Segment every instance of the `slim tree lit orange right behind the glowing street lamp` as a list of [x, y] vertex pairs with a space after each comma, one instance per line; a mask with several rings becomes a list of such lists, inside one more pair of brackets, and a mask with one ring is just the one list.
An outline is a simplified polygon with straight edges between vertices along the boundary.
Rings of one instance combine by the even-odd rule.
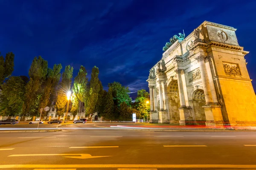
[[[72, 83], [72, 77], [73, 77], [73, 67], [70, 67], [70, 65], [67, 65], [65, 67], [64, 72], [62, 73], [62, 79], [58, 89], [57, 102], [55, 105], [58, 116], [63, 116], [63, 113], [65, 111], [65, 106], [67, 104], [67, 92], [71, 90], [70, 88]], [[58, 119], [59, 118], [60, 117], [58, 117]]]

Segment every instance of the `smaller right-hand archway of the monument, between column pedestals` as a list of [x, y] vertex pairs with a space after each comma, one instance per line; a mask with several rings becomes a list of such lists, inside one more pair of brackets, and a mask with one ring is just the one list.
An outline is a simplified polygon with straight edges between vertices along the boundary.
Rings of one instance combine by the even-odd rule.
[[195, 121], [197, 125], [204, 125], [206, 118], [204, 113], [204, 108], [202, 106], [205, 105], [205, 96], [204, 91], [198, 89], [193, 94], [193, 108], [195, 112]]

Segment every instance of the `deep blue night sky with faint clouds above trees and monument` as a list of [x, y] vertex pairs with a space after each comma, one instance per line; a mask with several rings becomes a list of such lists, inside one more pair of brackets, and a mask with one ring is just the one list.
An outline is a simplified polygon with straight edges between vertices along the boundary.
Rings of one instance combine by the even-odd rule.
[[148, 90], [149, 69], [170, 37], [190, 34], [204, 20], [237, 28], [256, 88], [255, 0], [0, 0], [0, 51], [15, 54], [13, 75], [28, 75], [41, 55], [49, 67], [99, 67], [107, 87], [117, 81], [132, 97]]

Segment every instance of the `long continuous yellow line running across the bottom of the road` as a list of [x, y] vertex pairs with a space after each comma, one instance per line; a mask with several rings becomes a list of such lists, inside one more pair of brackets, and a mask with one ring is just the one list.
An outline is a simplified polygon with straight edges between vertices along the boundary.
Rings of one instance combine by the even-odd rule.
[[0, 168], [256, 168], [243, 164], [7, 164]]

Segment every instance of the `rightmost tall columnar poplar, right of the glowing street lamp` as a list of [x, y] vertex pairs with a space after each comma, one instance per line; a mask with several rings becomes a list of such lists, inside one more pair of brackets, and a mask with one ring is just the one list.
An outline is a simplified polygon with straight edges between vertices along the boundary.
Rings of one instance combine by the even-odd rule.
[[99, 68], [96, 66], [92, 69], [91, 79], [90, 79], [90, 91], [89, 99], [87, 100], [87, 114], [93, 114], [95, 112], [96, 104], [98, 102], [98, 95], [100, 90], [99, 84]]

